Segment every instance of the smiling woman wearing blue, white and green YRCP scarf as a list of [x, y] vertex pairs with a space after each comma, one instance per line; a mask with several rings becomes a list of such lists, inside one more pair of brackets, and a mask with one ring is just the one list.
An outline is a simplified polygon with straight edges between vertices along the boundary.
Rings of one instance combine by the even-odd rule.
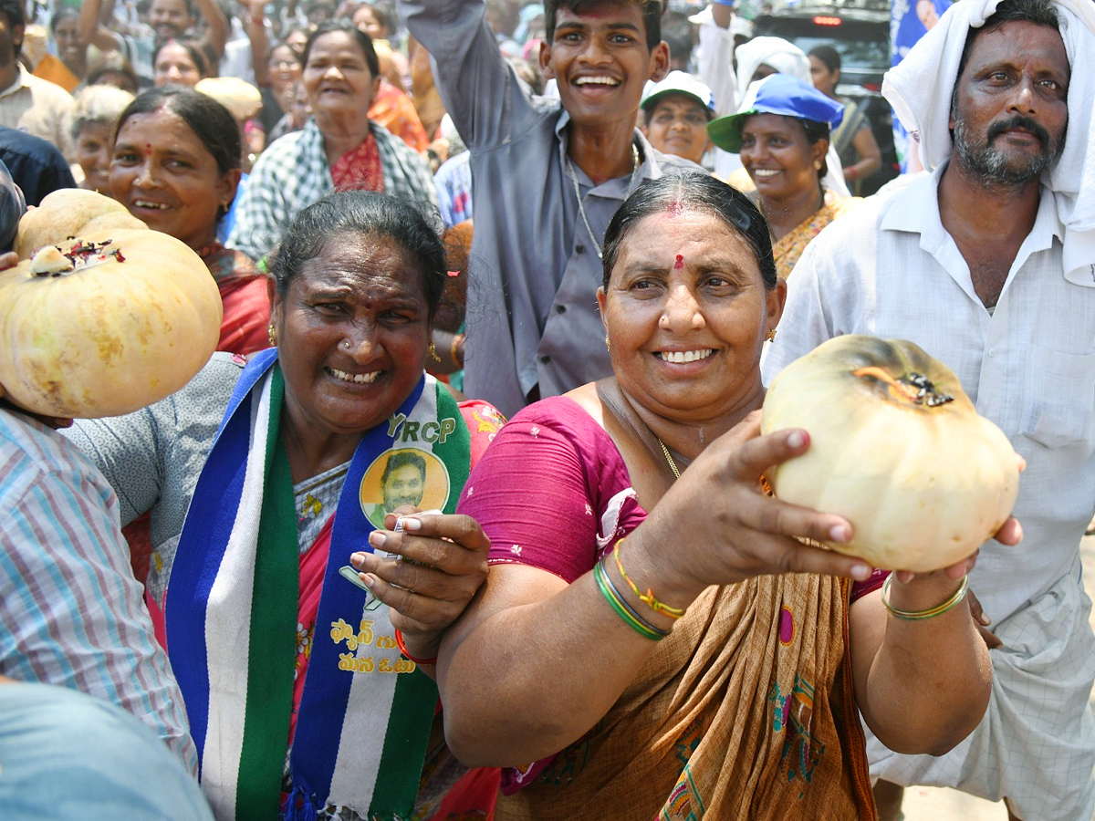
[[[170, 574], [168, 647], [218, 818], [411, 817], [437, 701], [416, 663], [486, 575], [482, 531], [452, 513], [500, 423], [423, 373], [445, 271], [413, 206], [333, 195], [273, 257], [278, 347], [72, 429], [123, 521], [152, 511], [149, 587]], [[385, 530], [390, 462], [420, 464], [404, 500], [445, 512]], [[497, 774], [465, 777], [460, 806], [488, 811]]]

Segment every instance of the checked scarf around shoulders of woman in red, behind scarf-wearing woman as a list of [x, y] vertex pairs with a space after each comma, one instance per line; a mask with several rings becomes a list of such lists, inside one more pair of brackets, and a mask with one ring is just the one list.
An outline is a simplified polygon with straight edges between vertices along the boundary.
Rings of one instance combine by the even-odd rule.
[[[370, 125], [380, 153], [384, 193], [417, 200], [436, 211], [434, 177], [423, 159], [383, 126]], [[323, 135], [310, 119], [301, 130], [275, 140], [260, 155], [226, 244], [252, 259], [262, 259], [298, 213], [334, 189]]]

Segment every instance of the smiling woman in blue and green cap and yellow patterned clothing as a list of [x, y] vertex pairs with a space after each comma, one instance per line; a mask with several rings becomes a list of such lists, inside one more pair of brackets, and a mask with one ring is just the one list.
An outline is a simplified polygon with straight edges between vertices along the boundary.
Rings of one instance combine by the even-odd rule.
[[749, 86], [737, 114], [707, 124], [718, 148], [741, 155], [749, 185], [727, 182], [749, 196], [768, 220], [776, 273], [786, 279], [821, 229], [858, 205], [825, 187], [829, 131], [843, 106], [805, 81], [770, 74]]

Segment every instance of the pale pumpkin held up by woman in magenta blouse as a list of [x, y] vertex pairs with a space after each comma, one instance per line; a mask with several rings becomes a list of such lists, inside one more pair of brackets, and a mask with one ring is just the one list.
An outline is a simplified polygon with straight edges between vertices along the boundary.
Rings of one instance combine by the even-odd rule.
[[775, 495], [839, 513], [834, 550], [876, 567], [947, 567], [992, 536], [1018, 494], [1015, 451], [958, 378], [912, 343], [839, 336], [788, 365], [761, 431], [803, 428], [809, 450], [776, 467]]

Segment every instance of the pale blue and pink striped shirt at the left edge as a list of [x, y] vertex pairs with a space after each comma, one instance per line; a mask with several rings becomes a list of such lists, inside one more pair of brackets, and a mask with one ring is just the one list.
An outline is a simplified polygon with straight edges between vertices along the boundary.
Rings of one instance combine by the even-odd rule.
[[0, 674], [79, 690], [197, 753], [103, 475], [41, 423], [0, 408]]

